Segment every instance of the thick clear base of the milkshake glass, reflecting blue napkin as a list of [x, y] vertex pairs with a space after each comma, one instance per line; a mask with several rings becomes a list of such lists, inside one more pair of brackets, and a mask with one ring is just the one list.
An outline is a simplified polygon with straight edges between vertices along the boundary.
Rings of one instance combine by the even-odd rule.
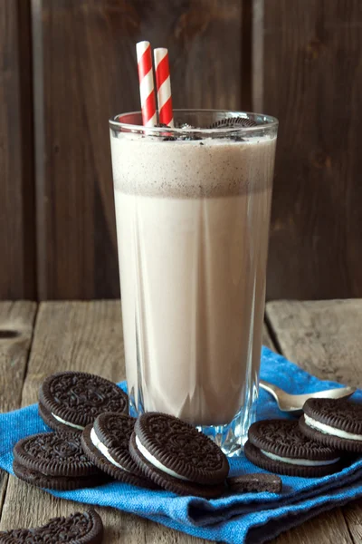
[[[129, 415], [138, 417], [144, 413], [143, 404], [135, 401], [133, 391], [129, 393]], [[243, 452], [243, 445], [248, 440], [248, 430], [255, 422], [257, 389], [253, 388], [253, 394], [250, 395], [249, 402], [246, 403], [239, 413], [235, 415], [231, 423], [225, 425], [196, 426], [200, 432], [204, 432], [213, 442], [215, 442], [228, 457], [236, 457]]]

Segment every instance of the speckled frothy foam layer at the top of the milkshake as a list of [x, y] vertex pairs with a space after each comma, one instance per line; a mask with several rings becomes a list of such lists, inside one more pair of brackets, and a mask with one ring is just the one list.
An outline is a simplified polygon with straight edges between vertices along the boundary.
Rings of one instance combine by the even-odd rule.
[[110, 142], [115, 189], [129, 194], [220, 197], [270, 186], [265, 171], [271, 168], [275, 139], [266, 136], [245, 142], [139, 141], [120, 134]]

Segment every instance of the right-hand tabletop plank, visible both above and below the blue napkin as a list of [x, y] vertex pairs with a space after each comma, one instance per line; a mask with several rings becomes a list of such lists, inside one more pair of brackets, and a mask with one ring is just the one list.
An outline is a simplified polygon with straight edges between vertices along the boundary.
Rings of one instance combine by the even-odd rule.
[[[283, 355], [319, 378], [361, 386], [362, 300], [271, 302], [266, 314]], [[357, 502], [308, 521], [290, 531], [288, 539], [281, 537], [278, 544], [295, 542], [298, 531], [306, 531], [307, 537], [313, 535], [313, 539], [305, 540], [310, 543], [350, 542], [352, 535], [357, 544], [361, 541], [361, 520], [362, 505]]]

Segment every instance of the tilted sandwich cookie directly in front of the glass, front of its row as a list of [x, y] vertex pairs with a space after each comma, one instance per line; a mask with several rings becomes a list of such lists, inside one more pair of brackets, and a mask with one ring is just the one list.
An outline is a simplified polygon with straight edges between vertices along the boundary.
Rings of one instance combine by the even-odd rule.
[[129, 452], [140, 470], [168, 491], [205, 499], [224, 492], [229, 472], [224, 452], [205, 434], [172, 415], [141, 415]]

